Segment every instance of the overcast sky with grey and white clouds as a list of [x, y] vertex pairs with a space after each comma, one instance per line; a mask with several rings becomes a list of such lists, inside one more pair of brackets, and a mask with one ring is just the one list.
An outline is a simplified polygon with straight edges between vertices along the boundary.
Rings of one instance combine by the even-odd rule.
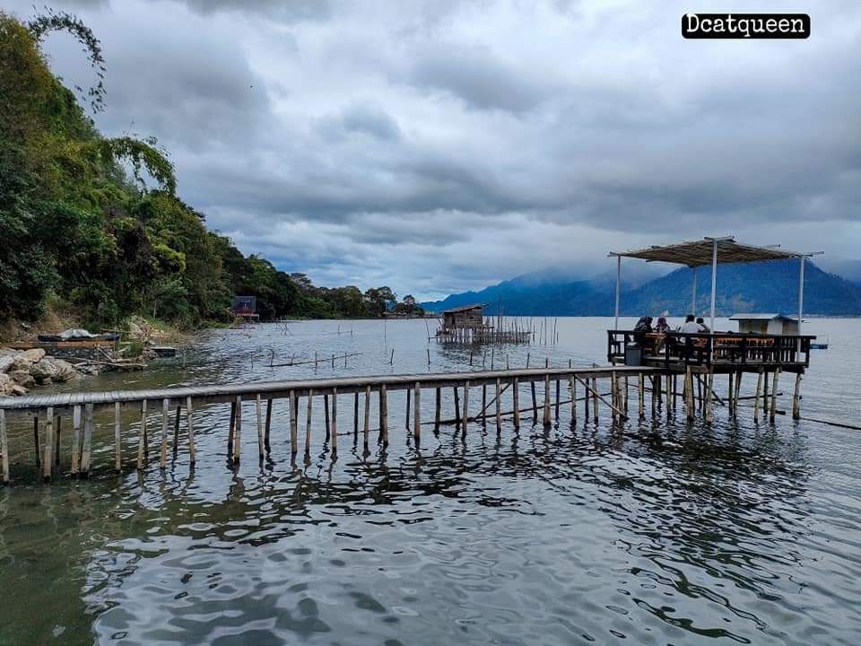
[[672, 0], [50, 4], [102, 41], [102, 131], [158, 137], [211, 227], [317, 284], [431, 298], [703, 235], [861, 258], [857, 0], [786, 41], [684, 40], [709, 7]]

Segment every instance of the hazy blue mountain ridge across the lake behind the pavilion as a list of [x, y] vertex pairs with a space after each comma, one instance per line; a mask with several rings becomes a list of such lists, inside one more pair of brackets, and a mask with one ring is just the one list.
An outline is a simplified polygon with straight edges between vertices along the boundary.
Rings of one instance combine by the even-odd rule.
[[[798, 310], [798, 261], [772, 260], [718, 266], [715, 298], [719, 316], [737, 312]], [[624, 278], [624, 272], [622, 272]], [[707, 314], [711, 300], [711, 267], [697, 270], [697, 311]], [[488, 303], [488, 314], [519, 316], [611, 316], [615, 281], [605, 276], [566, 280], [552, 273], [520, 275], [478, 292], [451, 294], [442, 301], [423, 302], [425, 310], [441, 311], [472, 303]], [[620, 310], [625, 316], [668, 311], [681, 316], [691, 309], [691, 269], [682, 267], [644, 284], [622, 284]], [[822, 316], [861, 315], [861, 285], [829, 274], [807, 261], [804, 266], [804, 313]]]

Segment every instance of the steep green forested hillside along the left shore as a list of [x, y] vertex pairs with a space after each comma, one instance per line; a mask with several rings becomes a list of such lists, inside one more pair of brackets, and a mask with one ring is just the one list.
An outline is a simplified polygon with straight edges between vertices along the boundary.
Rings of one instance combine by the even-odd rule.
[[[48, 68], [40, 42], [51, 31], [70, 32], [89, 53], [89, 91], [73, 92]], [[190, 327], [229, 320], [234, 294], [257, 296], [265, 319], [391, 307], [387, 287], [317, 288], [209, 231], [154, 140], [94, 127], [88, 110], [107, 100], [103, 74], [99, 41], [74, 16], [22, 23], [0, 13], [0, 322], [39, 319], [61, 303], [92, 327], [132, 314]]]

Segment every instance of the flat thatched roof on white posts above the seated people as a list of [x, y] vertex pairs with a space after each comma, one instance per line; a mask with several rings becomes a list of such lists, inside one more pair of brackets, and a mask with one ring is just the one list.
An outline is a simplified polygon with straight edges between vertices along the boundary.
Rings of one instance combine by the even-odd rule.
[[715, 241], [718, 242], [718, 264], [757, 262], [801, 258], [807, 254], [787, 251], [778, 247], [754, 247], [736, 242], [735, 238], [703, 238], [671, 245], [652, 245], [644, 249], [613, 251], [610, 256], [641, 258], [648, 262], [668, 262], [676, 265], [711, 265]]

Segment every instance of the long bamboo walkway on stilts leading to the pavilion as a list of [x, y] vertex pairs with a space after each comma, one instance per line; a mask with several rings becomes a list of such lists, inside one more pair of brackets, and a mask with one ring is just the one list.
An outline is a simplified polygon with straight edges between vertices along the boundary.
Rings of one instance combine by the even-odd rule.
[[[662, 387], [662, 378], [665, 390]], [[683, 391], [683, 403], [688, 411], [688, 417], [697, 407], [694, 403], [696, 388], [687, 382]], [[129, 467], [130, 462], [137, 469], [147, 466], [149, 442], [152, 432], [158, 432], [159, 465], [166, 468], [169, 450], [169, 428], [173, 417], [173, 437], [171, 450], [176, 453], [180, 445], [188, 451], [189, 462], [196, 462], [195, 446], [195, 411], [202, 406], [230, 404], [230, 424], [225, 429], [227, 457], [234, 465], [239, 464], [242, 448], [243, 404], [252, 406], [254, 430], [257, 431], [257, 454], [263, 460], [269, 450], [272, 410], [276, 400], [286, 400], [289, 403], [290, 445], [291, 453], [296, 455], [300, 446], [300, 417], [304, 409], [304, 449], [309, 453], [312, 435], [312, 412], [314, 401], [322, 398], [325, 407], [326, 444], [333, 453], [337, 452], [338, 423], [344, 418], [338, 415], [338, 403], [344, 397], [352, 399], [352, 432], [358, 439], [361, 437], [365, 446], [370, 439], [370, 410], [372, 399], [378, 408], [378, 442], [388, 443], [388, 403], [387, 397], [396, 391], [405, 391], [407, 429], [412, 424], [414, 441], [421, 442], [423, 425], [433, 425], [435, 432], [442, 424], [454, 424], [461, 432], [466, 432], [465, 422], [495, 420], [501, 427], [503, 416], [511, 417], [515, 428], [519, 428], [521, 414], [531, 414], [533, 423], [538, 423], [539, 415], [545, 426], [552, 425], [553, 417], [560, 415], [560, 406], [570, 404], [571, 421], [577, 420], [577, 404], [582, 402], [584, 419], [590, 416], [598, 421], [599, 407], [604, 407], [613, 420], [627, 419], [629, 406], [629, 383], [636, 383], [634, 392], [637, 394], [639, 417], [645, 416], [647, 393], [651, 393], [652, 411], [660, 407], [665, 397], [667, 415], [675, 408], [677, 391], [675, 378], [663, 367], [656, 366], [594, 366], [590, 368], [527, 368], [512, 370], [448, 372], [437, 374], [387, 375], [369, 377], [344, 377], [317, 380], [290, 380], [249, 382], [245, 384], [198, 386], [187, 388], [162, 388], [154, 390], [113, 390], [104, 392], [74, 392], [33, 395], [27, 397], [0, 397], [0, 479], [8, 484], [10, 473], [10, 455], [8, 428], [11, 423], [21, 423], [31, 420], [33, 425], [33, 443], [37, 468], [41, 476], [50, 480], [59, 475], [60, 469], [60, 434], [64, 428], [69, 428], [71, 418], [71, 461], [70, 473], [73, 477], [88, 476], [92, 468], [94, 415], [100, 413], [113, 414], [109, 422], [112, 433], [108, 437], [113, 442], [114, 450], [110, 452], [112, 467], [117, 472]], [[608, 383], [609, 382], [609, 383]], [[521, 387], [528, 384], [526, 397], [531, 401], [521, 402], [523, 396]], [[539, 385], [541, 401], [536, 392]], [[700, 410], [707, 421], [710, 419], [713, 389], [709, 380], [708, 392], [702, 394], [700, 386]], [[452, 388], [453, 410], [449, 410], [444, 418], [442, 411], [442, 392]], [[470, 406], [470, 399], [475, 388], [481, 389], [481, 407]], [[561, 399], [561, 389], [565, 388], [569, 398]], [[773, 385], [777, 392], [777, 379]], [[490, 401], [488, 401], [490, 389]], [[580, 396], [578, 397], [578, 390]], [[732, 387], [730, 388], [732, 391]], [[432, 421], [422, 420], [421, 398], [425, 392], [431, 392], [434, 397], [434, 412]], [[555, 391], [555, 396], [553, 392]], [[759, 388], [754, 415], [759, 415]], [[508, 392], [504, 411], [503, 395]], [[305, 401], [302, 402], [304, 397]], [[719, 399], [719, 397], [718, 397]], [[738, 395], [735, 393], [735, 401]], [[451, 400], [449, 400], [451, 401]], [[770, 415], [774, 415], [774, 399], [772, 399]], [[363, 405], [363, 406], [361, 406]], [[591, 407], [591, 413], [590, 413]], [[412, 413], [411, 413], [412, 408]], [[430, 406], [427, 406], [430, 409]], [[184, 409], [184, 410], [183, 410]], [[349, 406], [348, 408], [349, 409]], [[123, 412], [133, 411], [135, 415], [136, 455], [123, 455], [123, 438], [131, 433], [131, 429], [123, 428]], [[149, 411], [149, 414], [148, 414]], [[344, 411], [344, 408], [342, 408]], [[185, 413], [187, 435], [180, 441], [180, 415]], [[161, 415], [158, 415], [161, 413]], [[172, 415], [171, 415], [172, 414]], [[139, 415], [139, 416], [138, 416]], [[159, 421], [153, 424], [152, 417], [158, 415]], [[156, 429], [149, 428], [157, 426]], [[104, 438], [105, 423], [101, 419], [100, 437]], [[68, 432], [68, 431], [66, 431]], [[134, 440], [133, 440], [134, 441]], [[101, 451], [104, 452], [103, 450]]]

